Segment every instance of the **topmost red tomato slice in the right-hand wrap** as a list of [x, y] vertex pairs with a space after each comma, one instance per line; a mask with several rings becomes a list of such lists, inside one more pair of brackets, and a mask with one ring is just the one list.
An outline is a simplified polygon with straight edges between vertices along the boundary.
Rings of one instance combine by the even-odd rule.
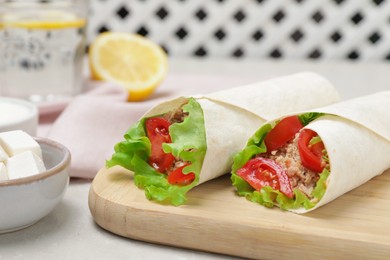
[[298, 116], [283, 118], [264, 138], [267, 152], [271, 152], [284, 146], [294, 138], [295, 134], [303, 128]]

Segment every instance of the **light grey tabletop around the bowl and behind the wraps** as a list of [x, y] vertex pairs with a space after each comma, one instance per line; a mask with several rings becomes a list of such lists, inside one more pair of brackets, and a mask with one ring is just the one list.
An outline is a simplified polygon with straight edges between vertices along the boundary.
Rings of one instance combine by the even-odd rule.
[[[390, 90], [390, 63], [173, 59], [170, 75], [174, 77], [168, 83], [190, 77], [207, 84], [207, 79], [229, 75], [238, 79], [231, 82], [233, 86], [240, 79], [249, 83], [300, 71], [327, 77], [344, 99]], [[71, 180], [52, 213], [29, 228], [0, 235], [0, 259], [233, 259], [122, 238], [101, 229], [89, 212], [90, 185], [90, 181]]]

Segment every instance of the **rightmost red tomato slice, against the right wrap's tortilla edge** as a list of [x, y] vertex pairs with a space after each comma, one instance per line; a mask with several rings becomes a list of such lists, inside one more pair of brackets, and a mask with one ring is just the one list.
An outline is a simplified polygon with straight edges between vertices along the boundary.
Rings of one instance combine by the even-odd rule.
[[318, 135], [313, 130], [303, 129], [298, 137], [298, 151], [302, 165], [309, 170], [320, 173], [325, 167], [321, 160], [325, 146], [322, 141], [310, 145], [310, 140], [315, 136]]

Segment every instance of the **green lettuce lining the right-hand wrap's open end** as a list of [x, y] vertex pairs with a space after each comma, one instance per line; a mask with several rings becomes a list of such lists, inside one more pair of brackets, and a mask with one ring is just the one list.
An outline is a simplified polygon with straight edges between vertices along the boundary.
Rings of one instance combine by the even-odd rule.
[[[313, 120], [321, 117], [322, 113], [305, 113], [299, 115], [303, 125], [307, 125]], [[232, 166], [231, 181], [234, 187], [236, 187], [237, 194], [243, 196], [249, 201], [258, 203], [265, 207], [278, 206], [283, 210], [305, 208], [310, 209], [314, 207], [318, 201], [322, 198], [326, 191], [326, 181], [330, 174], [330, 171], [324, 169], [320, 174], [320, 179], [317, 181], [316, 186], [312, 192], [313, 199], [309, 199], [299, 189], [294, 189], [294, 198], [291, 199], [281, 193], [278, 190], [274, 190], [269, 186], [263, 187], [260, 191], [255, 190], [244, 179], [236, 174], [237, 170], [245, 165], [247, 161], [254, 158], [260, 153], [267, 152], [267, 148], [264, 143], [265, 136], [271, 131], [276, 124], [265, 124], [248, 140], [246, 147], [240, 151], [234, 157], [234, 163]]]

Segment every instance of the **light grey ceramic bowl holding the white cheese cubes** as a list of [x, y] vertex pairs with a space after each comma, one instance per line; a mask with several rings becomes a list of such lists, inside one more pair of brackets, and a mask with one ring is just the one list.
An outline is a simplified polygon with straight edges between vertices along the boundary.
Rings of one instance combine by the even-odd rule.
[[46, 171], [0, 181], [0, 233], [28, 227], [62, 200], [69, 184], [70, 152], [46, 138], [35, 138], [42, 149]]

